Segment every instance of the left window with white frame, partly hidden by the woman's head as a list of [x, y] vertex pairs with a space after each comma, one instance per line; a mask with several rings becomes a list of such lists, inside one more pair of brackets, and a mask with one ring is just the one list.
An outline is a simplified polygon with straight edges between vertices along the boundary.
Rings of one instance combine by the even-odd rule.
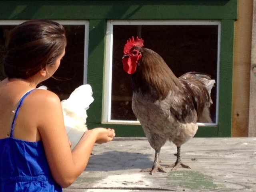
[[[2, 61], [6, 54], [6, 36], [14, 26], [24, 21], [1, 21], [0, 22], [0, 80], [4, 79]], [[41, 85], [58, 94], [61, 100], [67, 99], [75, 88], [87, 83], [88, 64], [88, 21], [56, 20], [66, 30], [68, 44], [66, 54], [60, 67], [50, 78]]]

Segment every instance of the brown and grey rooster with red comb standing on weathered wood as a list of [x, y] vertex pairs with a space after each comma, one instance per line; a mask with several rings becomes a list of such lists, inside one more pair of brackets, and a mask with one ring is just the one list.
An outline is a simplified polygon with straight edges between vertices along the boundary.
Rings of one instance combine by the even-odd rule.
[[124, 71], [132, 77], [132, 110], [155, 150], [152, 168], [142, 171], [166, 172], [159, 164], [166, 141], [177, 146], [176, 162], [168, 167], [190, 168], [182, 163], [180, 148], [196, 134], [196, 122], [212, 122], [210, 92], [215, 80], [196, 72], [177, 78], [159, 54], [143, 48], [143, 42], [138, 37], [127, 40], [122, 58]]

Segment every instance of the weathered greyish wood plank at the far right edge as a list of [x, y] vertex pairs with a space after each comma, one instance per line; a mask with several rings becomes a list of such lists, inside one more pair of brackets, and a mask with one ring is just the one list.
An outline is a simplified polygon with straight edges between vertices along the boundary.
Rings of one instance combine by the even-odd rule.
[[253, 1], [252, 54], [250, 70], [250, 106], [248, 136], [256, 136], [256, 0]]

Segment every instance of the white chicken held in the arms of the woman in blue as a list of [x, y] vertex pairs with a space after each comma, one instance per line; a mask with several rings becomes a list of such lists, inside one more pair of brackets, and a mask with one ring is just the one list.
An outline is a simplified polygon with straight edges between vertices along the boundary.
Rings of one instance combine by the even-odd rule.
[[[38, 89], [47, 89], [47, 87], [40, 86]], [[68, 99], [61, 102], [66, 132], [72, 143], [71, 149], [76, 146], [84, 132], [88, 130], [86, 110], [93, 101], [92, 87], [86, 84], [76, 88]]]

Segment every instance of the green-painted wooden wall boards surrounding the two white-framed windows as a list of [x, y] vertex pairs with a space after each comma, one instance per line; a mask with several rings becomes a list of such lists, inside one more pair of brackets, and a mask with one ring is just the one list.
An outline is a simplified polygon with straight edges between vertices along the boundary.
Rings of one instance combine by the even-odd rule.
[[196, 136], [228, 137], [232, 129], [232, 73], [237, 0], [1, 0], [0, 20], [89, 20], [88, 84], [94, 102], [88, 128], [116, 129], [117, 136], [144, 136], [139, 125], [101, 124], [107, 20], [220, 20], [218, 126], [200, 127]]

